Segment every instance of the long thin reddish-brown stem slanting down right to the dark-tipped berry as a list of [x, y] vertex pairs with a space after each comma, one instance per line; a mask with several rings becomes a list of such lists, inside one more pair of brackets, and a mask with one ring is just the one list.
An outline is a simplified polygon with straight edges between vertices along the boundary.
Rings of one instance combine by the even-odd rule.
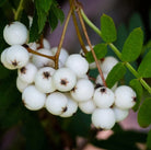
[[98, 60], [97, 60], [97, 58], [96, 58], [96, 55], [95, 55], [94, 49], [93, 49], [93, 47], [92, 47], [91, 41], [90, 41], [90, 38], [89, 38], [88, 32], [86, 32], [86, 27], [85, 27], [85, 24], [84, 24], [84, 21], [83, 21], [83, 18], [82, 18], [82, 14], [81, 14], [81, 11], [80, 11], [80, 10], [81, 10], [81, 8], [79, 7], [77, 12], [78, 12], [78, 15], [79, 15], [79, 20], [80, 20], [81, 26], [82, 26], [82, 28], [83, 28], [83, 33], [84, 33], [85, 38], [86, 38], [86, 41], [88, 41], [88, 44], [89, 44], [89, 46], [90, 46], [90, 48], [91, 48], [91, 51], [92, 51], [93, 58], [94, 58], [94, 60], [95, 60], [96, 67], [97, 67], [97, 69], [98, 69], [100, 76], [101, 76], [101, 78], [102, 78], [103, 84], [104, 84], [105, 86], [107, 86], [107, 85], [106, 85], [106, 82], [105, 82], [105, 79], [104, 79], [104, 76], [103, 76], [103, 72], [102, 72], [102, 70], [101, 70]]

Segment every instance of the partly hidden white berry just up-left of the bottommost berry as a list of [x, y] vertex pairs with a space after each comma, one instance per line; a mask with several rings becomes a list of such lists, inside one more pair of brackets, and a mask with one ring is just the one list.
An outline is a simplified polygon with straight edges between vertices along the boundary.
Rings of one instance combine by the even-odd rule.
[[89, 100], [89, 101], [85, 101], [85, 102], [80, 102], [79, 107], [85, 114], [92, 114], [94, 112], [94, 109], [96, 108], [93, 100]]

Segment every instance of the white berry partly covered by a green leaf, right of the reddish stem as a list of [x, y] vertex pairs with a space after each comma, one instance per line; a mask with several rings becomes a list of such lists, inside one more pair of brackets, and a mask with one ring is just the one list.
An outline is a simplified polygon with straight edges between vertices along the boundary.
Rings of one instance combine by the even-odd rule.
[[102, 61], [101, 61], [101, 68], [102, 68], [102, 71], [104, 73], [109, 73], [109, 71], [114, 68], [115, 65], [118, 64], [118, 60], [113, 57], [113, 56], [108, 56], [108, 57], [105, 57]]

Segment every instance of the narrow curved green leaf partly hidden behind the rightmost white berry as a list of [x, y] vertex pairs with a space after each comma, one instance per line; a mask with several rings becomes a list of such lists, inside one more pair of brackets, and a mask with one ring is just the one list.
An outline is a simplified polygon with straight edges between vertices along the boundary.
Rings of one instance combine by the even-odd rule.
[[137, 93], [137, 100], [136, 100], [137, 103], [132, 108], [136, 112], [139, 108], [143, 89], [142, 89], [141, 83], [138, 81], [138, 79], [131, 80], [129, 84]]

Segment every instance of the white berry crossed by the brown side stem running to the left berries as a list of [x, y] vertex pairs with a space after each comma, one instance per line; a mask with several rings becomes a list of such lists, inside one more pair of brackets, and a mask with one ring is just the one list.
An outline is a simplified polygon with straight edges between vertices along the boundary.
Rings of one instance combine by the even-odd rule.
[[[49, 49], [46, 49], [46, 48], [38, 49], [38, 53], [47, 55], [47, 56], [53, 56], [53, 53]], [[38, 55], [33, 55], [32, 62], [37, 68], [54, 67], [54, 61], [53, 60], [50, 60], [48, 58], [45, 58], [45, 57], [42, 57], [42, 56], [38, 56]]]

